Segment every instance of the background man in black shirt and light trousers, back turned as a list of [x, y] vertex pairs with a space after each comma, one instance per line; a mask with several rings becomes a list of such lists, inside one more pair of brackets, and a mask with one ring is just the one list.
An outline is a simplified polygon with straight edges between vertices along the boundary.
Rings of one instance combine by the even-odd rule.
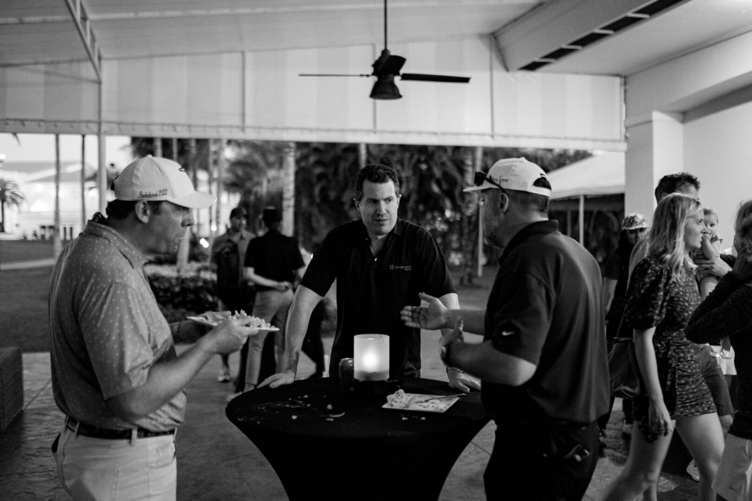
[[[253, 316], [263, 318], [280, 330], [274, 333], [274, 347], [281, 356], [287, 312], [293, 303], [293, 282], [303, 276], [305, 263], [298, 242], [280, 233], [282, 216], [274, 207], [262, 213], [266, 233], [248, 244], [245, 254], [245, 278], [256, 286]], [[245, 391], [253, 390], [259, 382], [262, 349], [267, 333], [248, 343], [245, 372]]]

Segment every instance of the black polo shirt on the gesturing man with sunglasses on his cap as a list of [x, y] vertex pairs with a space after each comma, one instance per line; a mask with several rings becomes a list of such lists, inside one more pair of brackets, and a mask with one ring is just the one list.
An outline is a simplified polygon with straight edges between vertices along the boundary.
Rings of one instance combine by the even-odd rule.
[[499, 264], [485, 339], [537, 369], [519, 387], [484, 381], [490, 415], [511, 423], [595, 421], [609, 404], [598, 263], [556, 221], [544, 221], [516, 234]]

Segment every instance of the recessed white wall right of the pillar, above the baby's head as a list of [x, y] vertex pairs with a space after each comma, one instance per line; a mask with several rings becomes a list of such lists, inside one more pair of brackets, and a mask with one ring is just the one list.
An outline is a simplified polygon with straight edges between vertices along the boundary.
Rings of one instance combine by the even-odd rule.
[[730, 246], [736, 207], [752, 198], [752, 102], [685, 123], [684, 170], [699, 178], [702, 203], [717, 211]]

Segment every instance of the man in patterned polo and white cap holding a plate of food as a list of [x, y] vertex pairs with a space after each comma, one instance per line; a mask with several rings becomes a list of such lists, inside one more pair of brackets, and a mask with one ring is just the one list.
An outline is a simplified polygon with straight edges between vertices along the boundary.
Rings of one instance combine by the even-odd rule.
[[[258, 329], [250, 317], [208, 333], [193, 321], [170, 325], [144, 275], [150, 256], [177, 250], [191, 209], [214, 196], [166, 158], [139, 158], [113, 184], [108, 217], [96, 213], [50, 280], [53, 395], [65, 415], [53, 455], [73, 499], [174, 501], [183, 388]], [[196, 343], [177, 355], [174, 340]]]

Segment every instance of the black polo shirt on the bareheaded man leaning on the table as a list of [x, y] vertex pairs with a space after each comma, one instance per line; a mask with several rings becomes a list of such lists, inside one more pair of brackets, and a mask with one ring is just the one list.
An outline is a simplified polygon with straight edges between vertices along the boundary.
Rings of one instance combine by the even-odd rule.
[[[301, 285], [323, 296], [337, 279], [337, 333], [329, 375], [338, 376], [341, 358], [353, 356], [356, 334], [390, 337], [390, 376], [420, 376], [420, 329], [399, 318], [418, 293], [441, 297], [454, 292], [444, 255], [428, 231], [398, 220], [378, 255], [362, 221], [333, 229], [308, 264]], [[250, 249], [249, 249], [250, 252]]]

